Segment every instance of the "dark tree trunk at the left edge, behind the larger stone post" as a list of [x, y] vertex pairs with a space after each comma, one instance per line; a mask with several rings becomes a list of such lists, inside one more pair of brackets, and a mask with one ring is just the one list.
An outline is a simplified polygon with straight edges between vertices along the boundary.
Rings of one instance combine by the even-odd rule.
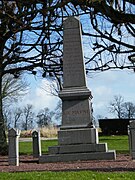
[[2, 107], [2, 71], [0, 69], [0, 155], [6, 155], [8, 153], [8, 146]]

